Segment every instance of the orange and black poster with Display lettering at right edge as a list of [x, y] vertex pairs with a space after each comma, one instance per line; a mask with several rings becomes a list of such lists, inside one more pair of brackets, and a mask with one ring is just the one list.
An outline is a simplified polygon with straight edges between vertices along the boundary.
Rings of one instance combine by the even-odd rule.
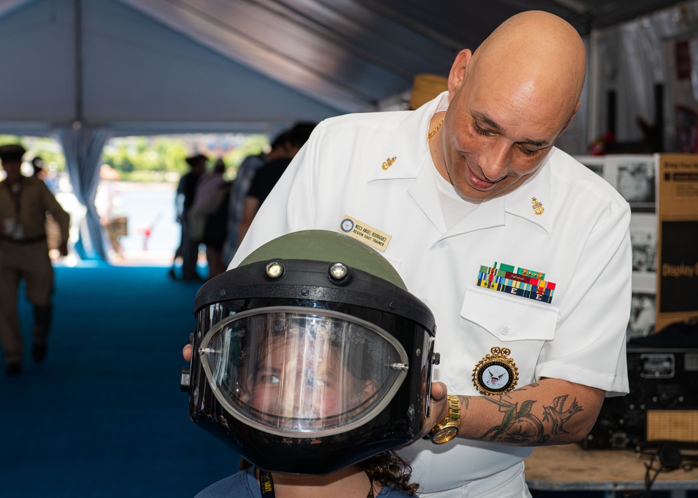
[[655, 330], [698, 317], [698, 154], [660, 154]]

